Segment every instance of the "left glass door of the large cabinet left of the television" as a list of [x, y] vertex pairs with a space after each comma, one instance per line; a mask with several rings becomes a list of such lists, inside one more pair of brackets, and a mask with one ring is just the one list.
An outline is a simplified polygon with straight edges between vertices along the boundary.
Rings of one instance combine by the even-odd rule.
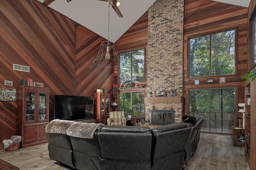
[[35, 92], [26, 94], [26, 121], [35, 121]]

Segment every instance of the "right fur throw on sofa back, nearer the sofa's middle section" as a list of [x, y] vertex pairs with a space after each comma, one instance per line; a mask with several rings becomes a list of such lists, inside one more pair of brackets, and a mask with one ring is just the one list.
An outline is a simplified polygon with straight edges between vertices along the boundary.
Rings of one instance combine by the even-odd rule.
[[68, 128], [67, 135], [84, 139], [93, 139], [94, 132], [100, 125], [104, 124], [83, 122], [74, 123]]

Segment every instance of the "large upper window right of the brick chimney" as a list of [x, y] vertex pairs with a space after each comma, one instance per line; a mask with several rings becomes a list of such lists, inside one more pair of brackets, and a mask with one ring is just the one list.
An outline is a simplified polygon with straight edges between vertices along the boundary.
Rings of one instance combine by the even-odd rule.
[[189, 77], [235, 73], [236, 31], [189, 39]]

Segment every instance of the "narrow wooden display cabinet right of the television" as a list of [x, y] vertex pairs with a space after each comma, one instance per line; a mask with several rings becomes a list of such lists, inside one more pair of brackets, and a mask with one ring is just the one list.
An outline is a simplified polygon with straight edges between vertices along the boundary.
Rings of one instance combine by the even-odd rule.
[[94, 93], [94, 111], [96, 123], [107, 124], [110, 109], [110, 94], [109, 93]]

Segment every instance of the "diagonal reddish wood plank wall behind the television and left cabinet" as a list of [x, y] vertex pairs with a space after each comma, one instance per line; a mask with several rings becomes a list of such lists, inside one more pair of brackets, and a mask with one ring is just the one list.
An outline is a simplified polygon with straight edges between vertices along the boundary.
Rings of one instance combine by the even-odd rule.
[[[102, 40], [36, 0], [1, 0], [0, 87], [17, 88], [23, 78], [43, 82], [50, 87], [50, 119], [54, 94], [93, 96], [97, 88], [112, 93], [113, 70], [92, 64]], [[30, 72], [12, 70], [13, 63], [30, 66]], [[16, 135], [16, 120], [17, 103], [0, 102], [0, 141]]]

